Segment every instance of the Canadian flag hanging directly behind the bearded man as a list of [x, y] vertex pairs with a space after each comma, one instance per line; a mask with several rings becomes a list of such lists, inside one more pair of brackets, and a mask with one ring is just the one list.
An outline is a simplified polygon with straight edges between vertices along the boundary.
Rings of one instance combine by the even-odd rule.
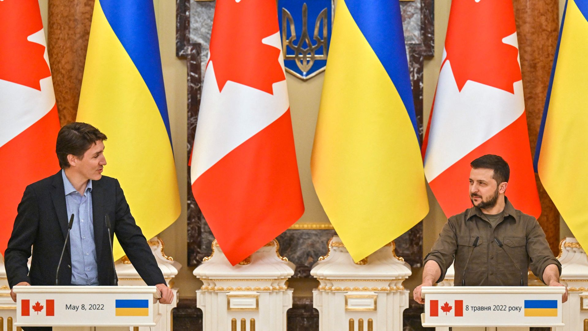
[[485, 154], [509, 163], [506, 196], [539, 217], [511, 0], [452, 2], [422, 151], [425, 176], [447, 217], [472, 206], [470, 162]]

